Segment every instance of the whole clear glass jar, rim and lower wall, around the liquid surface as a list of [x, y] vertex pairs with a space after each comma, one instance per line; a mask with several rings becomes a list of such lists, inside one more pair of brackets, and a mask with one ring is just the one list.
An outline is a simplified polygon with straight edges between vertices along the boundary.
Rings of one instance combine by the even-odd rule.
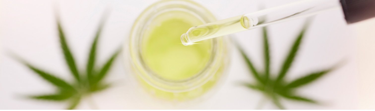
[[223, 37], [207, 40], [211, 41], [210, 58], [205, 67], [194, 76], [183, 80], [170, 80], [159, 76], [142, 58], [142, 38], [156, 16], [173, 10], [190, 13], [202, 23], [216, 20], [207, 9], [189, 0], [162, 0], [154, 3], [141, 13], [133, 24], [129, 45], [126, 47], [129, 50], [127, 56], [132, 72], [151, 95], [167, 100], [185, 101], [202, 96], [220, 81], [228, 65], [228, 42]]

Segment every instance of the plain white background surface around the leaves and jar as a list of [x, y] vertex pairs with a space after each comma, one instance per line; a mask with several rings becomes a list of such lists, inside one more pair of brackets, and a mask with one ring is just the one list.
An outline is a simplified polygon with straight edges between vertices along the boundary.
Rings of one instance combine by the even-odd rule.
[[[60, 15], [68, 43], [80, 69], [84, 69], [91, 41], [105, 9], [109, 18], [99, 42], [99, 63], [103, 63], [117, 47], [127, 44], [132, 23], [157, 0], [0, 0], [0, 109], [63, 109], [66, 104], [22, 98], [27, 94], [52, 92], [53, 87], [12, 59], [10, 52], [30, 63], [73, 80], [63, 60], [58, 43], [55, 15]], [[258, 4], [278, 6], [298, 0], [194, 0], [207, 7], [218, 19], [254, 12]], [[304, 19], [269, 26], [272, 72], [280, 69], [291, 43]], [[344, 66], [317, 82], [298, 90], [301, 95], [317, 99], [321, 104], [305, 104], [282, 100], [287, 109], [358, 109], [374, 108], [374, 20], [347, 25], [341, 10], [315, 16], [290, 72], [293, 80], [309, 72], [345, 60]], [[373, 34], [373, 35], [370, 35]], [[246, 53], [262, 68], [260, 29], [239, 32], [234, 37]], [[372, 37], [372, 38], [371, 38]], [[127, 52], [122, 52], [122, 55]], [[371, 56], [372, 55], [372, 56]], [[239, 86], [240, 81], [254, 82], [242, 58], [231, 48], [231, 64], [225, 80], [209, 98], [194, 103], [173, 103], [155, 99], [139, 87], [134, 76], [125, 69], [119, 56], [107, 78], [116, 86], [93, 95], [99, 109], [255, 109], [264, 97], [261, 93]], [[371, 66], [372, 65], [372, 66]], [[372, 84], [372, 85], [371, 85]], [[263, 109], [277, 109], [265, 101]], [[91, 109], [87, 100], [78, 109]]]

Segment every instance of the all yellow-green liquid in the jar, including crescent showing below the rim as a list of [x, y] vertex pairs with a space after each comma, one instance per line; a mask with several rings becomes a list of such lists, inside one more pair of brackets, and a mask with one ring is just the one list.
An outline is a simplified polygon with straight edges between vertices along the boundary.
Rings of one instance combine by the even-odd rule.
[[[202, 20], [183, 11], [169, 11], [154, 17], [142, 32], [141, 57], [149, 70], [166, 80], [188, 80], [201, 72], [212, 57], [212, 40], [184, 46], [180, 35], [192, 26], [203, 24]], [[220, 58], [222, 59], [222, 58]], [[220, 61], [217, 64], [222, 64]], [[223, 65], [203, 85], [186, 92], [163, 91], [145, 81], [145, 89], [157, 98], [185, 101], [197, 98], [209, 91], [222, 75]], [[141, 78], [139, 78], [141, 79]]]

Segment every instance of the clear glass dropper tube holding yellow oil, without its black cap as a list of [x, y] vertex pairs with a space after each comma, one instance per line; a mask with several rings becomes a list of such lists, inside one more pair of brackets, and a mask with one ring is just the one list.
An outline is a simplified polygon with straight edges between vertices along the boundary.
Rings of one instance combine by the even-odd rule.
[[[301, 0], [294, 3], [264, 9], [232, 18], [218, 20], [190, 28], [181, 35], [183, 45], [221, 37], [298, 18], [316, 15], [320, 12], [339, 9], [338, 0]], [[267, 18], [266, 18], [267, 16]]]

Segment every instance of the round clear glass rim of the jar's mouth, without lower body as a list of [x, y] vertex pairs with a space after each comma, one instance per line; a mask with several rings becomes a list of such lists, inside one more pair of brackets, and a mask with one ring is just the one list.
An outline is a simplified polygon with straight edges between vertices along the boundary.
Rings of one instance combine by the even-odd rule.
[[[188, 0], [162, 0], [152, 4], [144, 12], [139, 15], [135, 21], [130, 34], [130, 59], [132, 61], [133, 71], [139, 75], [141, 79], [149, 85], [168, 92], [185, 92], [203, 85], [207, 82], [219, 69], [220, 57], [223, 44], [220, 38], [212, 39], [211, 55], [206, 66], [197, 74], [183, 80], [165, 79], [154, 73], [144, 62], [142, 58], [142, 39], [144, 31], [150, 22], [159, 14], [168, 11], [183, 11], [194, 15], [203, 23], [213, 22], [216, 20], [213, 15], [204, 7]], [[182, 44], [181, 44], [182, 45]]]

